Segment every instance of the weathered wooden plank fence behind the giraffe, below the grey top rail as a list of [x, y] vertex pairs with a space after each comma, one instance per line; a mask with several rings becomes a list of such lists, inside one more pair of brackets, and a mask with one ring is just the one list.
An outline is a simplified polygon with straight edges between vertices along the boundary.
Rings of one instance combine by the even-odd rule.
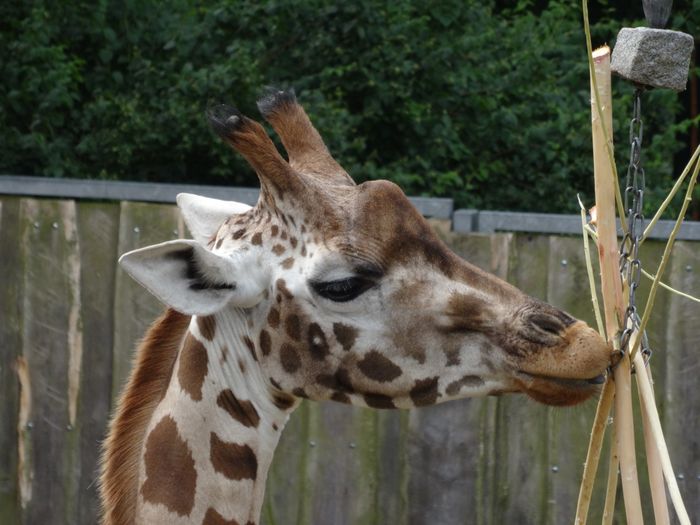
[[[0, 197], [0, 523], [96, 521], [108, 414], [134, 344], [161, 311], [117, 256], [183, 231], [169, 205]], [[579, 238], [444, 235], [466, 259], [592, 321]], [[644, 248], [653, 268], [662, 245]], [[667, 281], [700, 294], [700, 243], [678, 244]], [[662, 291], [650, 336], [672, 460], [698, 521], [699, 305]], [[516, 395], [412, 411], [305, 402], [271, 468], [263, 523], [571, 523], [594, 410], [594, 400], [552, 409]]]

